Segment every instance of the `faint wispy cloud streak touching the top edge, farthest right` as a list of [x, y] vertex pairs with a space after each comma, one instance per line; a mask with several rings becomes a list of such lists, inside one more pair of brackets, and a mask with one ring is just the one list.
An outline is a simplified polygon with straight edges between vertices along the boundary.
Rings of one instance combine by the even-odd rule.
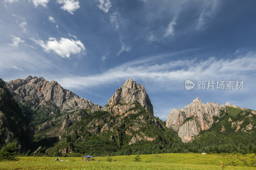
[[207, 21], [207, 19], [210, 19], [214, 16], [216, 7], [217, 7], [217, 0], [213, 0], [213, 1], [204, 1], [206, 4], [204, 4], [204, 9], [203, 11], [200, 13], [200, 16], [197, 20], [196, 23], [196, 30], [201, 30], [203, 29], [205, 22]]

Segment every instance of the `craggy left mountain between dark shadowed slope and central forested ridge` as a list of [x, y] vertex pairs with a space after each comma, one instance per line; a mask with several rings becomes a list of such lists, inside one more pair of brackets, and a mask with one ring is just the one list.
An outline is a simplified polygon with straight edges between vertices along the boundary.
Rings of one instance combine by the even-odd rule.
[[83, 116], [88, 111], [101, 108], [63, 89], [56, 81], [49, 82], [42, 77], [12, 80], [6, 83], [6, 88], [28, 110], [26, 116], [35, 126], [67, 113]]

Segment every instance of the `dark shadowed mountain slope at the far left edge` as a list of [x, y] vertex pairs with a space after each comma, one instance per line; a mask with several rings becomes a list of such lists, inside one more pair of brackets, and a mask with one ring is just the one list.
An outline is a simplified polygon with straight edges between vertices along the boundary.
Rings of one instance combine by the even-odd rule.
[[20, 152], [27, 152], [33, 143], [34, 127], [4, 85], [0, 79], [0, 146], [18, 138]]

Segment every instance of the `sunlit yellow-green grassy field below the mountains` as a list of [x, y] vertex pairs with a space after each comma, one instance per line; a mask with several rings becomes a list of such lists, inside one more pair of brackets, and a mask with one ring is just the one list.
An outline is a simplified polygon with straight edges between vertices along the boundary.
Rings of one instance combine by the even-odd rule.
[[[82, 158], [60, 157], [63, 162], [54, 162], [55, 157], [20, 157], [17, 162], [0, 162], [0, 169], [220, 169], [220, 162], [228, 165], [239, 155], [233, 154], [154, 154], [135, 156], [113, 156], [117, 162], [106, 162], [106, 157], [95, 157], [99, 161], [82, 161]], [[255, 169], [254, 154], [241, 155], [225, 169]], [[249, 158], [249, 159], [247, 159]], [[245, 160], [243, 160], [245, 159]], [[66, 161], [68, 160], [68, 161]], [[238, 162], [237, 162], [238, 161]]]

